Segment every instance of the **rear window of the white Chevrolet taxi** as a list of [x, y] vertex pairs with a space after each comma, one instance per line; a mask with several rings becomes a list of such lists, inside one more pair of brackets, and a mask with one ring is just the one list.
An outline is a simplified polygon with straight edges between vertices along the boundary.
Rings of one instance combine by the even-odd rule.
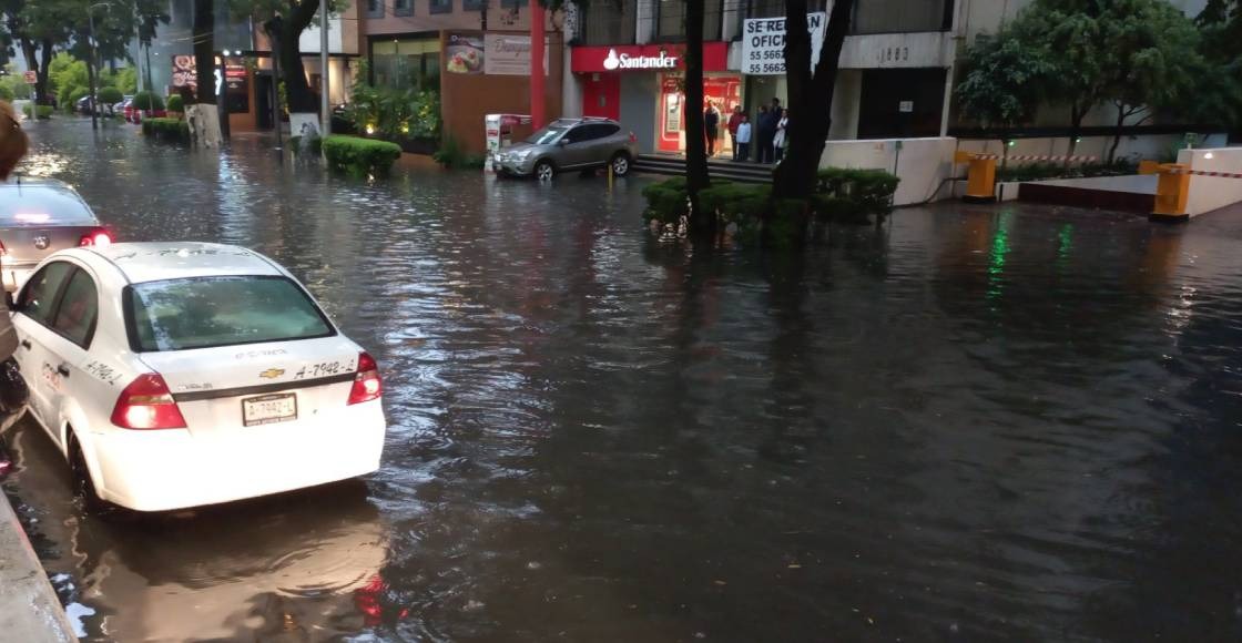
[[142, 353], [335, 334], [306, 292], [284, 277], [199, 277], [125, 290], [129, 341]]

